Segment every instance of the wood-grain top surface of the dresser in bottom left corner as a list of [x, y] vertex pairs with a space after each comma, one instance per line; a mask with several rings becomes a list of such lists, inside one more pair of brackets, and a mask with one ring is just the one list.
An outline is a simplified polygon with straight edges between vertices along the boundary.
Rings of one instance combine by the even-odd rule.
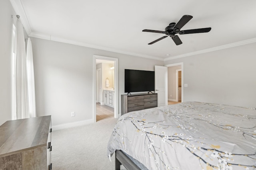
[[6, 121], [0, 126], [0, 156], [47, 144], [51, 116]]

